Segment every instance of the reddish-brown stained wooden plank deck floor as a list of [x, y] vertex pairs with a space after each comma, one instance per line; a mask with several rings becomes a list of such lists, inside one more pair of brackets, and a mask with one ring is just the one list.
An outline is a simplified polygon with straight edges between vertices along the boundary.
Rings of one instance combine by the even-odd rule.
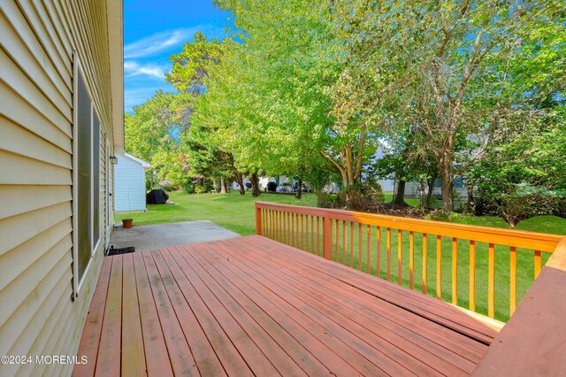
[[104, 258], [74, 375], [463, 375], [496, 331], [262, 236]]

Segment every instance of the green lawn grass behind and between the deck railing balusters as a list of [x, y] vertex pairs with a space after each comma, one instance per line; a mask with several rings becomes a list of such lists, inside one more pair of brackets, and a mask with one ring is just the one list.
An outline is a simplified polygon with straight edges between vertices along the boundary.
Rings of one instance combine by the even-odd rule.
[[[119, 213], [116, 215], [117, 221], [125, 218], [134, 218], [137, 225], [156, 224], [165, 222], [193, 221], [193, 220], [209, 220], [221, 227], [226, 227], [240, 235], [253, 235], [255, 230], [255, 212], [254, 203], [256, 201], [272, 202], [279, 204], [296, 204], [304, 206], [316, 206], [316, 196], [305, 194], [302, 200], [297, 200], [290, 195], [272, 195], [264, 194], [257, 198], [249, 195], [241, 196], [238, 192], [232, 192], [229, 195], [222, 194], [202, 194], [187, 195], [184, 192], [172, 192], [170, 199], [175, 205], [149, 204], [148, 212], [136, 213]], [[386, 193], [386, 201], [391, 200], [391, 194]], [[418, 199], [407, 199], [406, 202], [411, 205], [418, 204]], [[487, 227], [508, 228], [507, 223], [497, 217], [492, 216], [455, 216], [455, 222]], [[342, 248], [343, 228], [339, 224], [339, 241], [338, 247], [333, 246], [333, 258], [338, 258], [341, 263], [342, 258], [349, 265], [350, 258], [354, 268], [360, 268], [368, 271], [368, 253], [367, 253], [367, 229], [362, 228], [362, 248], [360, 254], [360, 238], [357, 225], [354, 227], [353, 237], [350, 235], [350, 225], [346, 226], [346, 249]], [[322, 240], [317, 243], [316, 232], [313, 236], [311, 229], [306, 231], [307, 224], [304, 223], [302, 244], [303, 250], [316, 252], [317, 244], [319, 250], [322, 249]], [[310, 228], [310, 223], [308, 224]], [[316, 227], [316, 221], [315, 221]], [[566, 235], [566, 219], [555, 216], [539, 216], [519, 222], [517, 229], [529, 230], [534, 232], [554, 233]], [[333, 227], [335, 232], [335, 227]], [[371, 252], [370, 252], [370, 269], [372, 274], [377, 273], [377, 229], [371, 227]], [[291, 235], [288, 234], [287, 238]], [[296, 233], [293, 235], [294, 242]], [[380, 277], [386, 279], [387, 252], [386, 252], [386, 229], [380, 231], [381, 244], [379, 250]], [[289, 240], [290, 241], [290, 240]], [[312, 242], [314, 241], [314, 242]], [[335, 243], [335, 233], [333, 234], [333, 242]], [[423, 286], [423, 236], [416, 234], [415, 242], [415, 278], [414, 289], [421, 290]], [[350, 254], [350, 245], [353, 244], [354, 252]], [[452, 285], [452, 239], [443, 237], [441, 240], [441, 296], [445, 301], [452, 301], [451, 285]], [[397, 281], [397, 247], [398, 235], [393, 230], [391, 234], [391, 273], [390, 280]], [[469, 307], [469, 242], [459, 240], [457, 242], [457, 304], [465, 308]], [[436, 296], [436, 237], [429, 235], [427, 242], [427, 294]], [[338, 251], [336, 254], [336, 250]], [[487, 314], [487, 244], [477, 242], [476, 245], [476, 312]], [[361, 258], [360, 258], [361, 257]], [[548, 253], [543, 253], [543, 263], [547, 261]], [[361, 263], [359, 263], [361, 261]], [[532, 250], [517, 250], [517, 298], [520, 300], [533, 281], [533, 253]], [[409, 286], [409, 232], [402, 232], [402, 284]], [[495, 318], [500, 320], [509, 319], [509, 248], [496, 246], [495, 248]]]

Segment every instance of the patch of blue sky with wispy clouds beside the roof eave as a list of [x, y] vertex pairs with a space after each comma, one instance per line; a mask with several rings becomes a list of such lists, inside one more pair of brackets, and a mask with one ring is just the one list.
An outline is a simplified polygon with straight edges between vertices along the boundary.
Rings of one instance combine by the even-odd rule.
[[221, 38], [230, 23], [229, 12], [212, 0], [125, 0], [124, 84], [125, 110], [132, 112], [157, 89], [172, 91], [164, 81], [171, 70], [169, 56], [179, 52], [196, 32]]

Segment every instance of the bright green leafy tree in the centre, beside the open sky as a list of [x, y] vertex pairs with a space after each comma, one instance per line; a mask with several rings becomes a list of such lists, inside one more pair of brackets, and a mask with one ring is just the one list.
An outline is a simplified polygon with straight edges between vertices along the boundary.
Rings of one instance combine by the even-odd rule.
[[[253, 156], [267, 172], [298, 172], [318, 155], [325, 169], [339, 174], [342, 187], [357, 181], [376, 150], [377, 135], [372, 132], [375, 123], [332, 112], [341, 101], [335, 84], [345, 66], [333, 2], [217, 4], [233, 12], [243, 41], [225, 72], [239, 76], [232, 82], [241, 96], [223, 104], [237, 106], [243, 118], [236, 126], [241, 127], [238, 140], [261, 147], [258, 154], [246, 149], [241, 160]], [[218, 81], [230, 81], [220, 77]], [[269, 140], [255, 140], [258, 133]]]

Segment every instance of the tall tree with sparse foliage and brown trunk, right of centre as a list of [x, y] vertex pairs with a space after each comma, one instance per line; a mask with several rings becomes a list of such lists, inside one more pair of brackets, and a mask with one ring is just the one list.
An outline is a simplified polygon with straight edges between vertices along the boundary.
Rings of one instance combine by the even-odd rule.
[[[419, 153], [436, 161], [442, 209], [452, 211], [455, 178], [506, 128], [532, 116], [516, 108], [533, 93], [520, 90], [529, 86], [512, 74], [517, 65], [530, 65], [526, 58], [547, 66], [563, 61], [556, 45], [539, 35], [546, 25], [563, 44], [563, 4], [352, 0], [342, 6], [340, 24], [354, 52], [348, 93], [363, 99], [349, 113], [371, 117], [375, 111], [366, 104], [374, 104], [393, 132], [404, 124], [419, 128]], [[543, 72], [554, 75], [547, 67]]]

